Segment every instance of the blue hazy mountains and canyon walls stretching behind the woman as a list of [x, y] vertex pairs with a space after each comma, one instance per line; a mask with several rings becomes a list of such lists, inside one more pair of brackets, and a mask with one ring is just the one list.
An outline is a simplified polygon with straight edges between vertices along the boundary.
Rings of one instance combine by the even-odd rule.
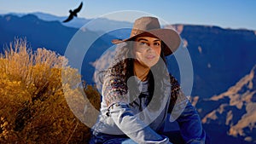
[[[6, 47], [15, 37], [26, 37], [32, 49], [44, 47], [64, 55], [73, 35], [90, 21], [77, 18], [64, 26], [61, 21], [65, 18], [42, 13], [0, 15], [0, 45]], [[83, 29], [82, 32], [98, 35], [109, 28], [104, 26], [131, 26], [131, 23], [102, 19], [99, 25], [96, 27], [102, 29]], [[177, 24], [172, 27], [177, 29], [187, 45], [194, 70], [191, 95], [212, 141], [256, 143], [253, 136], [256, 134], [256, 32], [218, 26]], [[93, 84], [95, 71], [95, 65], [92, 64], [106, 49], [113, 46], [110, 41], [115, 37], [124, 38], [129, 35], [129, 30], [109, 32], [99, 36], [92, 44], [81, 70], [89, 84]], [[179, 78], [175, 59], [172, 56], [167, 59], [171, 60], [168, 68]]]

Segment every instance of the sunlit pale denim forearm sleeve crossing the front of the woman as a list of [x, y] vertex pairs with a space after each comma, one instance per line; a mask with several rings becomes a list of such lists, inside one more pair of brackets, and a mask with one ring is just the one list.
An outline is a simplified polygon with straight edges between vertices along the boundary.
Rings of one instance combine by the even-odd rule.
[[131, 140], [143, 144], [172, 144], [169, 142], [169, 138], [157, 134], [147, 124], [144, 124], [142, 120], [137, 118], [125, 103], [113, 104], [109, 112], [114, 123]]

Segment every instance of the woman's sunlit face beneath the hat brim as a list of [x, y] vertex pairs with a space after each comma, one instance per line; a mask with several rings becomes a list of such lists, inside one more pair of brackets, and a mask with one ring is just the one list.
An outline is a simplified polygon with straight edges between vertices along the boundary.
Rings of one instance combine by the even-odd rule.
[[133, 52], [143, 66], [152, 67], [160, 59], [161, 41], [157, 37], [137, 37]]

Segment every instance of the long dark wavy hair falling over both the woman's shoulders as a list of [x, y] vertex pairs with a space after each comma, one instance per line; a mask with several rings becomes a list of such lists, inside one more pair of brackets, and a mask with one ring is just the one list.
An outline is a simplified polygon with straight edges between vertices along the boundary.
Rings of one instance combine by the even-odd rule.
[[[119, 79], [117, 83], [123, 83], [123, 84], [117, 84], [117, 85], [125, 85], [123, 91], [129, 92], [130, 94], [130, 105], [134, 104], [134, 100], [136, 100], [139, 95], [139, 89], [138, 85], [136, 86], [136, 78], [132, 77], [134, 75], [134, 60], [135, 57], [132, 54], [133, 50], [133, 43], [134, 41], [126, 42], [125, 44], [121, 44], [117, 46], [116, 55], [114, 60], [118, 61], [113, 66], [110, 67], [111, 76], [113, 78]], [[150, 67], [150, 71], [147, 75], [148, 80], [148, 95], [149, 95], [149, 101], [148, 109], [157, 111], [160, 109], [160, 105], [162, 104], [162, 100], [164, 100], [164, 88], [165, 85], [162, 83], [165, 78], [169, 79], [169, 73], [166, 68], [166, 57], [163, 53], [163, 48], [165, 47], [165, 43], [161, 42], [161, 52], [160, 52], [160, 58], [154, 66]], [[157, 73], [155, 73], [157, 72]], [[128, 85], [132, 84], [132, 87], [129, 87]], [[151, 101], [154, 97], [154, 101]]]

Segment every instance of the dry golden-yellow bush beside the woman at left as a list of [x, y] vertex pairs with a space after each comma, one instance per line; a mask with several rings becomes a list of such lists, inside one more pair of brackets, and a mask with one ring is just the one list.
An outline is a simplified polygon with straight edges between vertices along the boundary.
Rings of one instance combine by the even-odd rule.
[[[68, 76], [65, 82], [63, 73]], [[66, 100], [82, 106], [88, 103], [87, 97], [98, 109], [100, 95], [94, 87], [79, 84], [78, 71], [67, 66], [65, 57], [47, 49], [33, 53], [26, 40], [16, 39], [0, 55], [0, 75], [0, 143], [89, 140], [90, 128], [73, 114]], [[87, 96], [77, 95], [78, 91]], [[84, 111], [84, 107], [76, 108]]]

